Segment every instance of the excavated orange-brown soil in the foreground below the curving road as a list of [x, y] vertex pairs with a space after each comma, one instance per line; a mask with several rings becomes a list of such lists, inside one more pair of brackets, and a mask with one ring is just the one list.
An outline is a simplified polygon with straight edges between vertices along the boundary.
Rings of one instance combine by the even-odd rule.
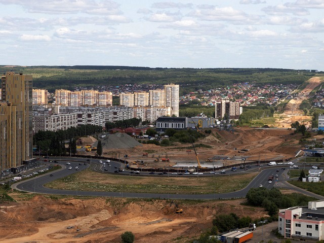
[[[15, 196], [14, 196], [15, 197]], [[174, 242], [211, 227], [216, 214], [235, 213], [260, 218], [262, 209], [241, 205], [245, 199], [207, 201], [175, 206], [166, 200], [50, 199], [35, 196], [0, 206], [0, 241], [17, 242], [121, 242], [132, 231], [135, 242]], [[179, 202], [177, 202], [179, 203]], [[69, 228], [69, 227], [73, 228]], [[184, 242], [184, 241], [177, 241]]]

